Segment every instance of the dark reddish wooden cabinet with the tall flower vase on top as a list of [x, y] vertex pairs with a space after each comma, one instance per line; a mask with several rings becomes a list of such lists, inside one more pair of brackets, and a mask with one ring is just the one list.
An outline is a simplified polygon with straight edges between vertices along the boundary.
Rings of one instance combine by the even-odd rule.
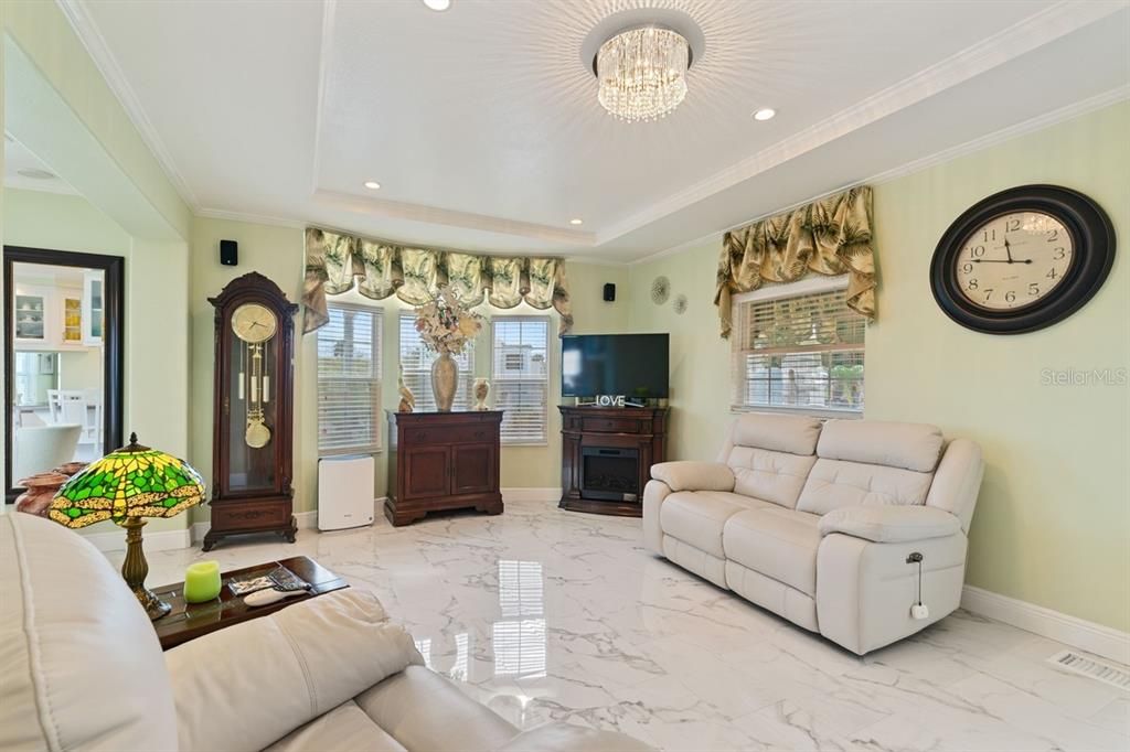
[[407, 525], [441, 509], [501, 514], [501, 410], [390, 411], [385, 516], [393, 525]]

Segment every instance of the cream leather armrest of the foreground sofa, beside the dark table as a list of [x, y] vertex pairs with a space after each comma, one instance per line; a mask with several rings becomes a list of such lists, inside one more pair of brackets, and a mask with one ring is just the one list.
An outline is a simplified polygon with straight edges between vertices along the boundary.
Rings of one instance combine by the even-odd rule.
[[412, 638], [349, 588], [165, 653], [181, 752], [258, 752], [412, 664]]

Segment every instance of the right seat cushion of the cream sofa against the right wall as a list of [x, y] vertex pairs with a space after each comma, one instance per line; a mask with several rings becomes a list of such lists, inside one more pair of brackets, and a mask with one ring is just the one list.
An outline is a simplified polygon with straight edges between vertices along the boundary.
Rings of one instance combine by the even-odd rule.
[[819, 522], [816, 515], [780, 507], [738, 513], [725, 523], [725, 558], [812, 596]]

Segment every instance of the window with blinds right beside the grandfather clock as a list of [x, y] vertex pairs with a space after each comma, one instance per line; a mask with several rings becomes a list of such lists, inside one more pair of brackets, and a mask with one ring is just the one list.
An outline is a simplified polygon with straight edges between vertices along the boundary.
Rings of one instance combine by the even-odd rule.
[[318, 449], [381, 448], [381, 309], [331, 303], [318, 330]]

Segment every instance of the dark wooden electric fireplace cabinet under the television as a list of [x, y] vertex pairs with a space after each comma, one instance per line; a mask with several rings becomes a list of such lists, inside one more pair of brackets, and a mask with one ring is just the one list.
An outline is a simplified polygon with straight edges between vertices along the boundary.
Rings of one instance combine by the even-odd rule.
[[643, 516], [643, 487], [667, 454], [666, 408], [558, 408], [560, 508]]

